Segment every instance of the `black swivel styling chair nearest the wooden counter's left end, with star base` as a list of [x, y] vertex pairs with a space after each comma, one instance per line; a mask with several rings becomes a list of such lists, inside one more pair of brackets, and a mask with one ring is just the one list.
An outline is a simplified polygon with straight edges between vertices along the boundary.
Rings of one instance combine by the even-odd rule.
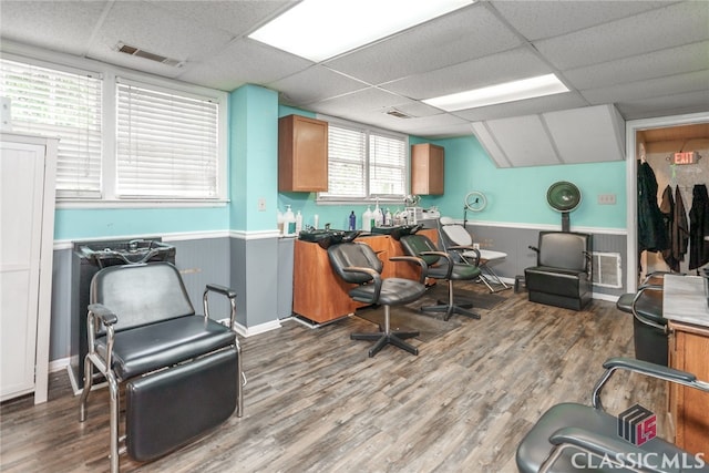
[[421, 280], [414, 281], [403, 278], [382, 278], [383, 264], [374, 250], [362, 243], [341, 243], [328, 248], [328, 257], [335, 273], [346, 282], [356, 284], [349, 295], [352, 299], [371, 305], [384, 306], [384, 327], [379, 332], [351, 333], [352, 340], [377, 341], [369, 350], [370, 358], [384, 346], [393, 345], [412, 354], [419, 354], [419, 349], [407, 343], [404, 339], [413, 338], [418, 331], [392, 331], [389, 326], [391, 306], [400, 306], [417, 300], [425, 292], [425, 263], [419, 258], [395, 256], [391, 261], [415, 261], [422, 267]]

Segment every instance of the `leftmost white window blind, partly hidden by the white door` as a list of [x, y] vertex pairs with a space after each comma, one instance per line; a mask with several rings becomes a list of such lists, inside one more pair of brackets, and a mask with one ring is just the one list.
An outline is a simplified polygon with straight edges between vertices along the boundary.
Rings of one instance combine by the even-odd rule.
[[59, 136], [58, 197], [101, 196], [101, 79], [0, 60], [12, 130]]

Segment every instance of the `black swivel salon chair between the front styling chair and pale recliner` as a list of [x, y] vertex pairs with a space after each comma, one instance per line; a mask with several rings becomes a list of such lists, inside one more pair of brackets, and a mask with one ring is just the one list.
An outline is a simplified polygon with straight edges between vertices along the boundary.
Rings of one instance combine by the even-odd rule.
[[428, 277], [442, 279], [448, 284], [448, 300], [439, 300], [438, 306], [422, 307], [422, 311], [444, 312], [443, 320], [450, 319], [453, 313], [480, 319], [480, 315], [469, 310], [472, 304], [456, 301], [453, 295], [453, 281], [470, 281], [480, 277], [481, 270], [477, 266], [465, 263], [454, 263], [451, 255], [439, 250], [435, 244], [425, 235], [414, 234], [402, 236], [399, 243], [407, 255], [418, 256], [427, 263], [429, 267]]

